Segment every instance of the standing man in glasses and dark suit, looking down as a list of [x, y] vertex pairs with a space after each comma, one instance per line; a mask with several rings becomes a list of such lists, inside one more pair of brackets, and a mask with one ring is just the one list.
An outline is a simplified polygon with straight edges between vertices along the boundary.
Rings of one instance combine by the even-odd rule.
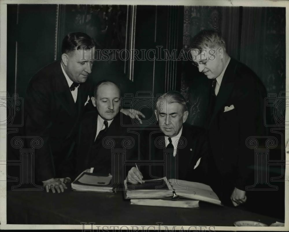
[[216, 31], [201, 31], [192, 40], [193, 64], [211, 82], [207, 120], [210, 143], [210, 179], [224, 204], [247, 200], [254, 151], [246, 146], [250, 136], [265, 135], [266, 89], [247, 66], [229, 57]]

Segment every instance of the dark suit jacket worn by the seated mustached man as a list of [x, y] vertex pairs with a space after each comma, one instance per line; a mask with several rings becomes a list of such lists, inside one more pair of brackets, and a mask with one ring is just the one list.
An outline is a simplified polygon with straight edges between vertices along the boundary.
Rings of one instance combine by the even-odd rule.
[[[95, 136], [97, 131], [97, 112], [87, 112], [84, 114], [81, 119], [81, 123], [79, 126], [79, 132], [77, 136], [77, 149], [76, 149], [76, 162], [75, 162], [75, 170], [76, 174], [80, 174], [82, 171], [88, 168], [94, 167], [93, 172], [101, 173], [101, 174], [113, 174], [115, 173], [115, 168], [119, 167], [120, 160], [116, 160], [112, 162], [112, 152], [121, 153], [125, 149], [125, 159], [124, 162], [129, 160], [133, 155], [135, 148], [138, 146], [137, 138], [134, 133], [129, 133], [127, 130], [129, 129], [129, 125], [132, 125], [131, 118], [119, 112], [108, 129], [102, 136], [101, 141], [95, 146]], [[126, 125], [126, 126], [122, 126]], [[112, 144], [110, 142], [105, 142], [103, 140], [111, 137], [112, 143], [114, 146], [109, 146]], [[128, 143], [123, 143], [125, 138], [128, 138], [133, 143], [133, 146], [129, 145], [130, 142], [126, 140]], [[107, 144], [107, 146], [104, 146]], [[128, 146], [127, 146], [128, 145]], [[118, 156], [115, 154], [115, 158]], [[122, 163], [124, 164], [124, 163]], [[123, 168], [123, 165], [121, 165]], [[129, 168], [129, 167], [127, 167]], [[121, 181], [123, 181], [127, 175], [127, 171], [122, 169], [123, 173], [121, 174]], [[73, 178], [77, 177], [73, 176]], [[118, 173], [117, 175], [120, 175]]]

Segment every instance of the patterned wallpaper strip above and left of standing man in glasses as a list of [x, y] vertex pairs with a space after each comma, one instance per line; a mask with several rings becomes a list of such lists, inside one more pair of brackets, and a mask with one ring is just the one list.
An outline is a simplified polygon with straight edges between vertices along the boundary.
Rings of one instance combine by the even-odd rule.
[[[220, 7], [185, 6], [183, 49], [190, 49], [190, 40], [203, 29], [221, 31]], [[181, 93], [187, 99], [189, 116], [187, 122], [203, 126], [208, 105], [209, 82], [190, 61], [183, 62]]]

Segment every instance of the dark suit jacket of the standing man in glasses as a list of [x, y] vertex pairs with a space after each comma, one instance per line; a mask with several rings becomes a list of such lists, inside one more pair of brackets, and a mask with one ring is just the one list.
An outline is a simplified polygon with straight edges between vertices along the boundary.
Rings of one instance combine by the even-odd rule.
[[[234, 187], [245, 190], [254, 166], [249, 136], [265, 135], [266, 89], [253, 71], [231, 58], [225, 70], [216, 104], [208, 121], [212, 157], [212, 185], [228, 199]], [[224, 112], [225, 106], [234, 109]], [[225, 195], [224, 195], [225, 194]], [[222, 198], [222, 196], [221, 196]]]

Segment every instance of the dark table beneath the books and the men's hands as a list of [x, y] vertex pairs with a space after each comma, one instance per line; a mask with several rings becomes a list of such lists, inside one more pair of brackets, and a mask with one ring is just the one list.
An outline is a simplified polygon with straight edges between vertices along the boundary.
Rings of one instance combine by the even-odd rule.
[[8, 191], [7, 224], [96, 225], [213, 225], [234, 226], [235, 221], [253, 220], [271, 224], [280, 221], [238, 208], [200, 202], [196, 209], [130, 205], [123, 193]]

